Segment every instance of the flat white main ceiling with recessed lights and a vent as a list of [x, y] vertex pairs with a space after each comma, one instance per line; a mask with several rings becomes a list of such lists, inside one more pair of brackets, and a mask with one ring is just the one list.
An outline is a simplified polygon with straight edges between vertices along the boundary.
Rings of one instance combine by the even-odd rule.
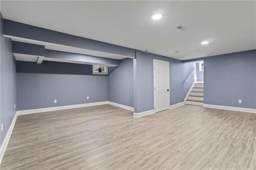
[[[1, 13], [8, 20], [181, 60], [256, 49], [256, 1], [1, 0]], [[156, 13], [160, 20], [151, 19]], [[180, 24], [188, 30], [177, 30]]]

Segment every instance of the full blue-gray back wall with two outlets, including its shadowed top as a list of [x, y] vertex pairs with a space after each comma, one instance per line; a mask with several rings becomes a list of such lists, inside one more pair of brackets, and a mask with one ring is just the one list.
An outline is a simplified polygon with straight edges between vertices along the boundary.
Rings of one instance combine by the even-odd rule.
[[91, 65], [17, 61], [19, 111], [101, 101], [108, 101], [108, 76], [92, 75]]

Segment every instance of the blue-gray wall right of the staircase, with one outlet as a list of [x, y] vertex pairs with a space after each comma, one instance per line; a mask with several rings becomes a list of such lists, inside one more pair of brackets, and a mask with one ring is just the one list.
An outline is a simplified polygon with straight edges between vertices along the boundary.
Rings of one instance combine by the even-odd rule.
[[256, 109], [256, 50], [203, 59], [205, 104]]

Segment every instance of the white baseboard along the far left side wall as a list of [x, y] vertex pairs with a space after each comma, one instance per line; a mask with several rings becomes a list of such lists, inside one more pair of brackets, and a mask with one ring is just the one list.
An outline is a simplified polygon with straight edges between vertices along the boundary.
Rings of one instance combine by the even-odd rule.
[[11, 137], [11, 134], [12, 134], [12, 130], [14, 128], [17, 116], [18, 116], [18, 113], [16, 112], [14, 117], [13, 117], [13, 119], [12, 119], [12, 123], [11, 123], [11, 125], [9, 127], [9, 130], [8, 130], [8, 132], [7, 132], [7, 134], [6, 134], [5, 138], [4, 138], [2, 146], [0, 148], [0, 164], [1, 164], [2, 159], [4, 157], [4, 152], [5, 152], [6, 148], [7, 148], [8, 142], [10, 140], [10, 137]]

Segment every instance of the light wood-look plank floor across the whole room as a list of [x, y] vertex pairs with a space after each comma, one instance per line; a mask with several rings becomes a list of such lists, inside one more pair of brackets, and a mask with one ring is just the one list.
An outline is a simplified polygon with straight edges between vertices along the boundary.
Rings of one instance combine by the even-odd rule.
[[256, 114], [112, 105], [20, 115], [1, 170], [256, 169]]

